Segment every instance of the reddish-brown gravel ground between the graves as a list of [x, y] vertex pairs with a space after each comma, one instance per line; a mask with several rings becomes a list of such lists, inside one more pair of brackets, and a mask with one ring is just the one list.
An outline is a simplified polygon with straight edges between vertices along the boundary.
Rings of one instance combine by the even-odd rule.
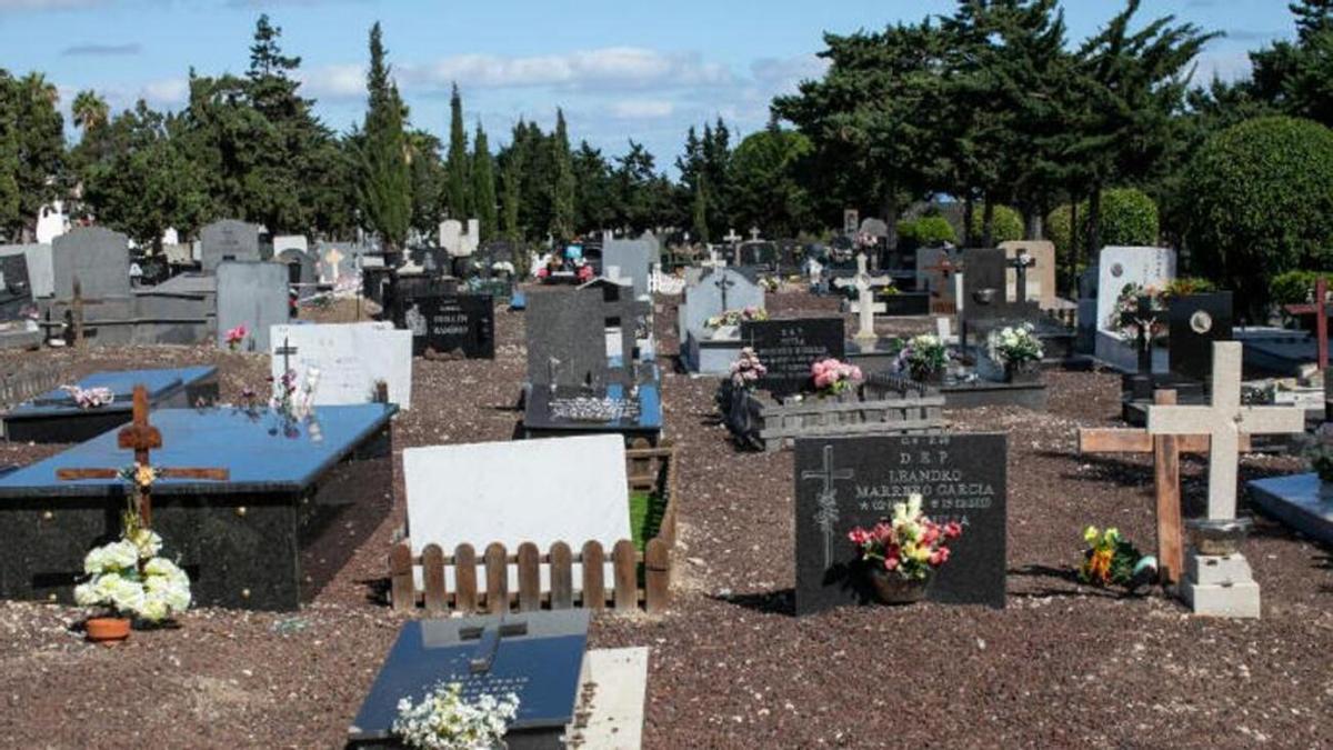
[[[778, 315], [834, 300], [770, 295]], [[674, 312], [659, 300], [663, 351]], [[321, 312], [347, 319], [347, 311]], [[925, 331], [928, 320], [885, 332]], [[497, 312], [493, 362], [413, 364], [407, 446], [504, 440], [524, 371], [523, 316]], [[854, 330], [854, 328], [852, 328]], [[211, 348], [5, 354], [0, 371], [217, 363], [223, 396], [263, 384], [264, 358]], [[1050, 410], [950, 412], [952, 427], [1009, 432], [1008, 609], [842, 609], [792, 617], [792, 456], [738, 454], [710, 412], [714, 382], [666, 375], [680, 447], [684, 581], [656, 618], [601, 615], [593, 646], [652, 647], [649, 747], [958, 746], [1250, 747], [1333, 745], [1333, 581], [1328, 551], [1265, 520], [1245, 554], [1258, 622], [1197, 619], [1160, 595], [1120, 597], [1072, 578], [1088, 523], [1153, 539], [1146, 458], [1084, 459], [1078, 426], [1114, 424], [1117, 378], [1053, 372]], [[59, 447], [0, 444], [0, 463]], [[1290, 472], [1248, 458], [1245, 478]], [[1206, 495], [1186, 462], [1186, 512]], [[179, 630], [85, 645], [77, 610], [0, 602], [0, 746], [333, 747], [400, 615], [376, 601], [392, 515], [297, 613], [196, 610]], [[5, 530], [19, 534], [21, 530]], [[904, 717], [920, 717], [904, 721]]]

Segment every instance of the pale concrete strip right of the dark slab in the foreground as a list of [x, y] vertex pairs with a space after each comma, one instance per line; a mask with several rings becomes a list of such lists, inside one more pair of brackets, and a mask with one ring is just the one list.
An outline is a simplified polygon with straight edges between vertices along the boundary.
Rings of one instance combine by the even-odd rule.
[[579, 718], [571, 747], [637, 750], [644, 742], [648, 649], [600, 649], [584, 655]]

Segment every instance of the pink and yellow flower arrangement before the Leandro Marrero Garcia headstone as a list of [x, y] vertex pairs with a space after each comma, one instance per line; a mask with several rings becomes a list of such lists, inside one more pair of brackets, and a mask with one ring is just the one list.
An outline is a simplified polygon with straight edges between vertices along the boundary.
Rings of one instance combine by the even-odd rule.
[[893, 518], [880, 519], [872, 528], [857, 526], [846, 535], [862, 560], [909, 579], [925, 578], [949, 562], [949, 542], [960, 536], [962, 526], [957, 522], [936, 523], [921, 512], [921, 495], [894, 504]]

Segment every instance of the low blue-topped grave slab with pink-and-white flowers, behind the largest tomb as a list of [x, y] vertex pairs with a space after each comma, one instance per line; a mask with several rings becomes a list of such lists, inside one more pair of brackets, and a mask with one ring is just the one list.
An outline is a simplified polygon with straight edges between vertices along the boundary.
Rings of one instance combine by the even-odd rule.
[[131, 419], [135, 386], [148, 388], [153, 408], [191, 407], [217, 400], [217, 368], [212, 366], [164, 370], [124, 370], [95, 372], [77, 383], [80, 388], [111, 388], [115, 400], [96, 408], [79, 408], [60, 388], [21, 403], [4, 415], [9, 440], [35, 443], [80, 443]]

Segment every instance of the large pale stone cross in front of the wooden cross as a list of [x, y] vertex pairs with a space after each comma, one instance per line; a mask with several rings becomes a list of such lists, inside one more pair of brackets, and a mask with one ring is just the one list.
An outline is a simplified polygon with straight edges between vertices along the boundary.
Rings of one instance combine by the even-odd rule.
[[1241, 406], [1241, 343], [1213, 343], [1213, 396], [1209, 406], [1148, 407], [1149, 435], [1208, 435], [1208, 519], [1236, 518], [1236, 464], [1240, 436], [1305, 431], [1294, 406]]

